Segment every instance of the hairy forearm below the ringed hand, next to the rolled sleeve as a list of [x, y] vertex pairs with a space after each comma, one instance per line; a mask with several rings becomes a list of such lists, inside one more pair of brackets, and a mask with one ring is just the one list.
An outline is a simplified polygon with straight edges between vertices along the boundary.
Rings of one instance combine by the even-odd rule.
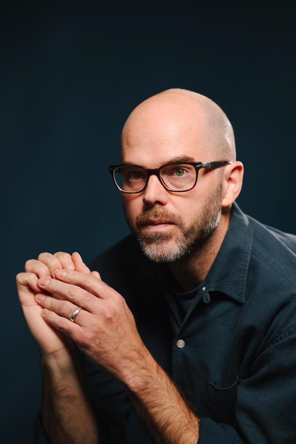
[[200, 420], [193, 406], [152, 357], [130, 373], [126, 391], [155, 444], [197, 443]]

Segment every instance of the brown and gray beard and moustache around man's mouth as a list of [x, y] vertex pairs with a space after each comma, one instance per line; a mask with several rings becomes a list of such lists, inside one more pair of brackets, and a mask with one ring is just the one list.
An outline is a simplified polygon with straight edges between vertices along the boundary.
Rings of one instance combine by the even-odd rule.
[[[222, 183], [219, 184], [217, 190], [205, 201], [200, 214], [197, 214], [193, 223], [185, 226], [184, 220], [180, 215], [171, 214], [160, 206], [155, 206], [138, 214], [136, 217], [136, 229], [132, 227], [131, 221], [123, 207], [126, 222], [138, 240], [142, 252], [145, 256], [154, 262], [175, 262], [178, 259], [199, 249], [202, 244], [213, 234], [217, 228], [221, 218], [221, 190]], [[141, 222], [146, 219], [163, 218], [169, 222], [173, 222], [178, 226], [177, 237], [173, 233], [149, 232], [141, 227]], [[174, 228], [172, 229], [172, 231]]]

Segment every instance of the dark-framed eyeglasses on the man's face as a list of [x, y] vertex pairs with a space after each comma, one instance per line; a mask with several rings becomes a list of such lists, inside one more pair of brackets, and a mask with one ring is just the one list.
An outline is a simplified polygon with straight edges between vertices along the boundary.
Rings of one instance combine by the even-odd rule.
[[139, 165], [109, 165], [114, 184], [122, 193], [141, 193], [145, 190], [152, 174], [166, 190], [182, 193], [194, 188], [198, 171], [231, 164], [228, 160], [213, 162], [174, 162], [159, 168], [145, 168]]

